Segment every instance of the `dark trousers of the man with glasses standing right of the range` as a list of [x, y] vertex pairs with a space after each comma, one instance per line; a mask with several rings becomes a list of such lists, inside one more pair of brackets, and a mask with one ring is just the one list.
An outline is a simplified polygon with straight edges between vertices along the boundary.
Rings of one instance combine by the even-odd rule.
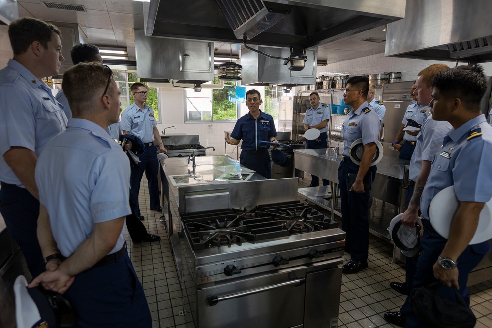
[[[351, 258], [359, 261], [367, 261], [369, 252], [369, 215], [368, 202], [369, 191], [358, 194], [349, 191], [348, 174], [357, 173], [359, 165], [354, 164], [349, 158], [344, 157], [338, 167], [338, 183], [341, 198], [342, 230], [347, 234], [345, 247], [350, 251]], [[376, 176], [376, 166], [371, 166], [368, 173], [372, 181]]]

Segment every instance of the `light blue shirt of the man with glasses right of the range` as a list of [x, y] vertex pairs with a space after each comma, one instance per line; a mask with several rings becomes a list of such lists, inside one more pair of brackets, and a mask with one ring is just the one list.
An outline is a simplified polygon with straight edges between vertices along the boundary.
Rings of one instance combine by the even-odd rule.
[[354, 112], [348, 112], [343, 122], [341, 136], [343, 138], [343, 156], [349, 156], [350, 146], [354, 141], [362, 138], [362, 144], [376, 142], [379, 135], [379, 118], [369, 109], [367, 101], [362, 103]]

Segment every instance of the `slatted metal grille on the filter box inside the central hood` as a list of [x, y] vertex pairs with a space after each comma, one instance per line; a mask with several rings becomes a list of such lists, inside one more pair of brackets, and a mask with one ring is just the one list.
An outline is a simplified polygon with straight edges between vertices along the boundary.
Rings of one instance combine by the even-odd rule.
[[265, 8], [263, 1], [260, 0], [216, 1], [233, 30], [238, 29]]

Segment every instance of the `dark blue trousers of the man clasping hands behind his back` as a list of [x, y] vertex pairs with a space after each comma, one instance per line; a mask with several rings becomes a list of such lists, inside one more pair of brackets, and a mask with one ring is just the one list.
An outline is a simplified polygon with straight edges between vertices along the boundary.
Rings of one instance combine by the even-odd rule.
[[75, 328], [150, 328], [144, 290], [128, 253], [116, 263], [75, 276], [64, 294], [75, 311]]

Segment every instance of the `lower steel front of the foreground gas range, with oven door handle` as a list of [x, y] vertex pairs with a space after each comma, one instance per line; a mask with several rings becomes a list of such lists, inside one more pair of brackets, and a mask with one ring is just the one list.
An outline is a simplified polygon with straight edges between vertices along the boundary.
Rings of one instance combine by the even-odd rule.
[[196, 327], [337, 327], [341, 262], [336, 258], [309, 267], [201, 286]]

